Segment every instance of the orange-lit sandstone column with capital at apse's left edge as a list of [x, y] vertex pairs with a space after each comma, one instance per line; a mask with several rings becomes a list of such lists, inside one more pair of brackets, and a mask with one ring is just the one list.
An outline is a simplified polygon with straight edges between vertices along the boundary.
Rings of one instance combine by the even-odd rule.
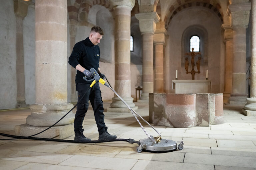
[[154, 93], [164, 93], [164, 44], [167, 31], [162, 22], [156, 24], [153, 36], [155, 49], [155, 86]]

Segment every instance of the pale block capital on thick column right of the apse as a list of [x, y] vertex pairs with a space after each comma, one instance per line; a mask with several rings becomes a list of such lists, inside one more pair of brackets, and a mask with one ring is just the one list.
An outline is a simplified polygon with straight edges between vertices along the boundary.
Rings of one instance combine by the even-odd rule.
[[227, 9], [231, 27], [248, 27], [250, 18], [251, 3], [230, 4]]

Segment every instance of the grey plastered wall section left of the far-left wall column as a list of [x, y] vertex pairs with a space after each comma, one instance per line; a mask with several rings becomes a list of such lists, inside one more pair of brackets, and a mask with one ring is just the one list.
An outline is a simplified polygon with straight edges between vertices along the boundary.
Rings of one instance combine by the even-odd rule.
[[16, 80], [16, 25], [13, 1], [0, 1], [0, 109], [15, 108]]

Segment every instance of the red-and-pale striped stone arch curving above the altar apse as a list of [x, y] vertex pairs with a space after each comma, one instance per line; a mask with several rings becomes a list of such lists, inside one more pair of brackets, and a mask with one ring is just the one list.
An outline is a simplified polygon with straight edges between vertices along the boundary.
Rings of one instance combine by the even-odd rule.
[[215, 13], [223, 23], [224, 13], [221, 9], [221, 5], [216, 0], [176, 0], [173, 5], [170, 6], [168, 13], [164, 17], [165, 28], [167, 29], [171, 19], [183, 9], [189, 7], [204, 7]]

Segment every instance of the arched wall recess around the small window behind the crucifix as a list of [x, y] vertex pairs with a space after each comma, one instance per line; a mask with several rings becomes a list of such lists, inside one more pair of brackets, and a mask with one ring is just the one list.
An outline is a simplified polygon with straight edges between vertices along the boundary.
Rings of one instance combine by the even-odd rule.
[[181, 63], [182, 65], [185, 63], [185, 58], [187, 57], [185, 53], [190, 51], [190, 37], [193, 35], [197, 35], [200, 38], [201, 63], [202, 65], [208, 65], [208, 32], [201, 25], [191, 25], [184, 30], [182, 34]]

